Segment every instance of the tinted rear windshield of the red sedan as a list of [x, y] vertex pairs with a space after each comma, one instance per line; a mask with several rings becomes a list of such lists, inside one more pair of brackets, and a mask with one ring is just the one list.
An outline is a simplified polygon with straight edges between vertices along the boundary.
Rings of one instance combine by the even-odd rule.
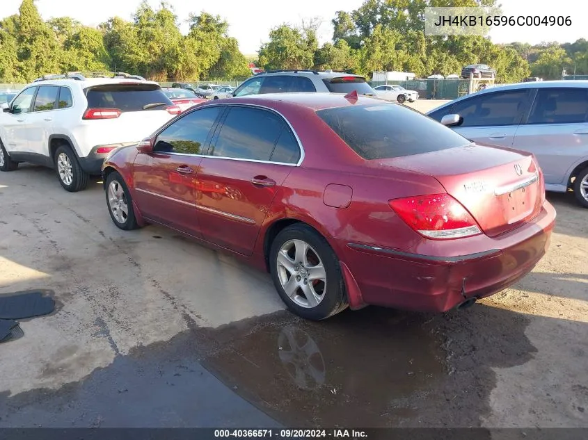
[[385, 159], [436, 152], [471, 142], [429, 117], [398, 104], [327, 108], [317, 115], [354, 152]]

